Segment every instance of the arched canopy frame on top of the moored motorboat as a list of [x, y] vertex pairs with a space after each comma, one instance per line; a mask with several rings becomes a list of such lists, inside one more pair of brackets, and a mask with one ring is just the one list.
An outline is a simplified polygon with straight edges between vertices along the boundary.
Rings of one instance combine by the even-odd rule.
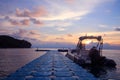
[[102, 56], [102, 48], [103, 48], [103, 39], [101, 36], [81, 36], [79, 37], [79, 41], [77, 44], [77, 52], [80, 53], [80, 50], [85, 50], [85, 44], [82, 43], [83, 40], [85, 39], [96, 39], [98, 41], [98, 44], [96, 48], [99, 51], [99, 54]]

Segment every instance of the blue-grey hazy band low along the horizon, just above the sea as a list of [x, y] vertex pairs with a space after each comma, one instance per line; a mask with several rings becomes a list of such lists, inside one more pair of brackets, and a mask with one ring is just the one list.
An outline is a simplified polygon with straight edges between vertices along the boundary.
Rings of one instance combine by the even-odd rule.
[[[32, 41], [31, 41], [32, 42]], [[37, 42], [36, 44], [33, 43], [32, 48], [76, 48], [76, 44], [66, 43], [66, 42]], [[91, 43], [86, 45], [86, 48], [91, 48], [92, 46], [97, 45], [97, 43]], [[110, 50], [120, 50], [120, 45], [104, 43], [103, 49], [110, 49]]]

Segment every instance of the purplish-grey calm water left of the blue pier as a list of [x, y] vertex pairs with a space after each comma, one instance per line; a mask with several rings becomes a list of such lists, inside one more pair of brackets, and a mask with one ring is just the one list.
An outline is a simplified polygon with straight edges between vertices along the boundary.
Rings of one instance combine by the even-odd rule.
[[0, 79], [43, 55], [35, 49], [0, 49]]

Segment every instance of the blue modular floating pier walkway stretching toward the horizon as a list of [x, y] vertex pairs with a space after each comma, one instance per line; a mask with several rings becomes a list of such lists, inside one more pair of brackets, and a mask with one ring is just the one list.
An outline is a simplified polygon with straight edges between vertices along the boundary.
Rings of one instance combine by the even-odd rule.
[[5, 80], [97, 80], [57, 51], [48, 51], [10, 74]]

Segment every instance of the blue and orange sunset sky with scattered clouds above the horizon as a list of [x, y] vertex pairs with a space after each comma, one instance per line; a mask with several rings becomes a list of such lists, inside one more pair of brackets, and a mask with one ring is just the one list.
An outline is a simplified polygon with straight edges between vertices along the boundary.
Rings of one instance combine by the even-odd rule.
[[70, 47], [84, 35], [120, 49], [120, 0], [0, 0], [0, 35]]

